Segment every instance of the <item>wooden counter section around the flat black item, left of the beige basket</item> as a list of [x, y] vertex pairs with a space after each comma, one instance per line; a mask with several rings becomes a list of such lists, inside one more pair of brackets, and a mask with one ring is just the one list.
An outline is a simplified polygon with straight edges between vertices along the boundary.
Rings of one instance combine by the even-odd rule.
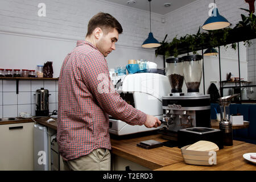
[[170, 164], [175, 164], [183, 161], [180, 149], [177, 147], [158, 147], [150, 150], [137, 147], [136, 144], [144, 140], [157, 140], [165, 142], [160, 134], [149, 135], [146, 137], [138, 137], [131, 139], [111, 139], [112, 154], [121, 156], [122, 158], [131, 160], [141, 166], [157, 169]]

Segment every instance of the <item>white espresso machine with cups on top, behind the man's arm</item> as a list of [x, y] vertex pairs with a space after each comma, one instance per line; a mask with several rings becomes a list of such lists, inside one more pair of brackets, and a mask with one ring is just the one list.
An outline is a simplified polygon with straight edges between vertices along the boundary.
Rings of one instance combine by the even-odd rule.
[[[154, 115], [159, 120], [163, 118], [162, 97], [171, 92], [168, 78], [158, 73], [135, 73], [123, 76], [112, 76], [115, 90], [128, 104], [146, 114]], [[129, 135], [161, 129], [162, 125], [147, 128], [142, 125], [129, 125], [109, 115], [109, 133], [114, 135]]]

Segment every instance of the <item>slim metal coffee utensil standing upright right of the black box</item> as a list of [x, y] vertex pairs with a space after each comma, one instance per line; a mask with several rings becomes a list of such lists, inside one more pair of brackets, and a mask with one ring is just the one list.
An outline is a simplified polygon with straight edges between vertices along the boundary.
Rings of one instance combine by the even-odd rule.
[[229, 114], [229, 105], [234, 97], [239, 96], [240, 94], [233, 94], [231, 96], [220, 97], [218, 98], [218, 102], [220, 104], [221, 109], [221, 121], [219, 124], [220, 130], [223, 133], [223, 145], [224, 146], [233, 146], [233, 133], [232, 133], [232, 123], [227, 118]]

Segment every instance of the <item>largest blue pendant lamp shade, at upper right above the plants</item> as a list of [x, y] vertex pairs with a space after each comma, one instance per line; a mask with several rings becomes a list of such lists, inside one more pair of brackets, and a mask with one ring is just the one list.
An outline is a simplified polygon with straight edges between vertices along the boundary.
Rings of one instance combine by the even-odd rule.
[[212, 10], [212, 16], [210, 16], [203, 25], [204, 30], [218, 30], [230, 26], [229, 21], [218, 13], [217, 7]]

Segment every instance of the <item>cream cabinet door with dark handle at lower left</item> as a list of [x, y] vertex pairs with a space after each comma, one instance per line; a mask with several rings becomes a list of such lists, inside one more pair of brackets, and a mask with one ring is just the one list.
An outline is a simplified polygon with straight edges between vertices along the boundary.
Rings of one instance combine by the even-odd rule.
[[34, 122], [0, 125], [0, 170], [33, 170]]

